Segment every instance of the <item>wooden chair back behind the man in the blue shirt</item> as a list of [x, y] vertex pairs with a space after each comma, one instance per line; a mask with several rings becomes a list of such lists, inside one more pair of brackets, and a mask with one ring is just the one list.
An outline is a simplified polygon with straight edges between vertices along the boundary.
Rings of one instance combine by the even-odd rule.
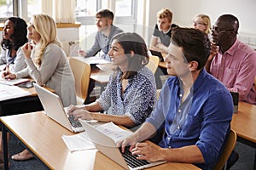
[[230, 134], [224, 146], [223, 153], [220, 156], [216, 166], [214, 167], [214, 170], [224, 169], [225, 164], [227, 163], [232, 150], [234, 150], [235, 148], [235, 145], [236, 145], [236, 131], [230, 129]]

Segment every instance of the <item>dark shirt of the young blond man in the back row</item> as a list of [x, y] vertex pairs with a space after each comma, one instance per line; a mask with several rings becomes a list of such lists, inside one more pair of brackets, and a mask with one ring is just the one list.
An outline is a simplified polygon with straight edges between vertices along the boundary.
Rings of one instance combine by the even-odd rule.
[[158, 37], [160, 42], [162, 42], [166, 47], [170, 45], [172, 37], [172, 28], [176, 27], [175, 24], [172, 24], [167, 32], [159, 31], [157, 24], [154, 26], [153, 37]]

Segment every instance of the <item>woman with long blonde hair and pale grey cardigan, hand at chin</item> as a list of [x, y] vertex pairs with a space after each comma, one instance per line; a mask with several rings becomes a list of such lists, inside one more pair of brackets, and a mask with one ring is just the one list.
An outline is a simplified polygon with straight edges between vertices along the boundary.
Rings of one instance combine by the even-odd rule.
[[[27, 31], [27, 38], [32, 40], [22, 47], [27, 67], [15, 74], [9, 72], [6, 78], [32, 77], [39, 85], [54, 89], [64, 106], [76, 105], [73, 72], [56, 40], [55, 21], [47, 14], [33, 15]], [[30, 158], [32, 154], [28, 150], [12, 156], [18, 161]]]

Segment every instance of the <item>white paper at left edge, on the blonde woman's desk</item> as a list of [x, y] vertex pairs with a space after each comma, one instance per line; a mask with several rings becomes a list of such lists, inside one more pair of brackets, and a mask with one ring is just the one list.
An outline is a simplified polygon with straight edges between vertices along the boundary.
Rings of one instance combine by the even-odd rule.
[[28, 95], [31, 95], [30, 92], [22, 88], [19, 88], [17, 86], [0, 84], [0, 101], [7, 100], [7, 99], [20, 98]]

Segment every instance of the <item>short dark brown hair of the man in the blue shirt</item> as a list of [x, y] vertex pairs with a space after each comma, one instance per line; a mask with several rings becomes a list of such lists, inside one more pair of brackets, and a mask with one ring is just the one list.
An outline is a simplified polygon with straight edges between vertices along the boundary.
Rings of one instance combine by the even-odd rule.
[[197, 70], [206, 65], [210, 55], [211, 43], [206, 33], [194, 28], [174, 28], [171, 42], [179, 48], [183, 48], [185, 59], [197, 61]]

